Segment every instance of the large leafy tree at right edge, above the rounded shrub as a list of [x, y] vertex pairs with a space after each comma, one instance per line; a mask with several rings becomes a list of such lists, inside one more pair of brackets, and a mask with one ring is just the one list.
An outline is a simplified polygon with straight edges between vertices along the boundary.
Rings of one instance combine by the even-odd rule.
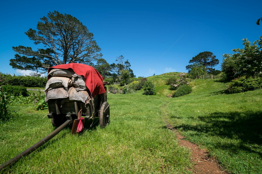
[[262, 76], [262, 36], [252, 44], [243, 39], [244, 48], [232, 49], [234, 54], [224, 54], [221, 70], [225, 78], [232, 80], [241, 76]]

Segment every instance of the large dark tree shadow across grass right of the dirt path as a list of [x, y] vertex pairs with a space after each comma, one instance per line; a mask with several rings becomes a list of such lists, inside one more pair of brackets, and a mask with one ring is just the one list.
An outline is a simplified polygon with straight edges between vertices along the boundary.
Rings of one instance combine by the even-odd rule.
[[[196, 131], [196, 134], [208, 134], [241, 140], [237, 145], [218, 144], [219, 148], [241, 148], [242, 150], [252, 151], [249, 144], [262, 145], [262, 112], [214, 112], [208, 116], [201, 116], [194, 119], [200, 124], [182, 124], [174, 128], [182, 128], [183, 131]], [[216, 146], [216, 145], [215, 145]], [[256, 151], [257, 152], [257, 151]], [[258, 152], [262, 155], [260, 152]]]

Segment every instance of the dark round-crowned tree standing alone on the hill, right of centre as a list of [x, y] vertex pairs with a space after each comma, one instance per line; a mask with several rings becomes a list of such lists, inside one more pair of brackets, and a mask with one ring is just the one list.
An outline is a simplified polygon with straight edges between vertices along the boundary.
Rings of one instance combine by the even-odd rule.
[[[205, 51], [193, 57], [191, 60], [189, 60], [189, 63], [198, 63], [200, 65], [203, 65], [207, 69], [207, 73], [212, 73], [212, 71], [215, 70], [213, 67], [218, 65], [219, 60], [216, 59], [216, 56], [213, 53]], [[186, 66], [186, 69], [189, 73], [192, 67], [193, 64]]]

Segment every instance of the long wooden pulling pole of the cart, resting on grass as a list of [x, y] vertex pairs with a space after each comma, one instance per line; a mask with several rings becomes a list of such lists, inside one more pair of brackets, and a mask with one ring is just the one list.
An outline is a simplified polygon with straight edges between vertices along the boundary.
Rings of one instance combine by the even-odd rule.
[[34, 152], [37, 148], [39, 148], [41, 145], [43, 145], [44, 143], [48, 142], [51, 138], [53, 138], [55, 135], [57, 135], [60, 131], [62, 131], [63, 128], [65, 128], [67, 125], [69, 125], [70, 123], [72, 123], [73, 120], [67, 120], [66, 122], [64, 122], [61, 126], [59, 126], [58, 128], [56, 128], [54, 131], [52, 131], [49, 135], [47, 135], [46, 137], [44, 137], [41, 141], [37, 142], [36, 144], [34, 144], [33, 146], [31, 146], [30, 148], [28, 148], [27, 150], [25, 150], [24, 152], [20, 153], [19, 155], [17, 155], [16, 157], [10, 159], [8, 162], [5, 162], [4, 164], [2, 164], [0, 166], [0, 171], [2, 169], [4, 169], [6, 166], [18, 161], [19, 159], [21, 159], [23, 156], [29, 155], [31, 152]]

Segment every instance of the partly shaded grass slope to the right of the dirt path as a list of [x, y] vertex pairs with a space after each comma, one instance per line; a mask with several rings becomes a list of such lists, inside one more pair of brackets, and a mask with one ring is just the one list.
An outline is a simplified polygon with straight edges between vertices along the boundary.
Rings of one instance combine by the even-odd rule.
[[171, 98], [168, 121], [232, 173], [262, 173], [262, 90], [225, 94], [228, 84], [196, 80], [192, 93]]

